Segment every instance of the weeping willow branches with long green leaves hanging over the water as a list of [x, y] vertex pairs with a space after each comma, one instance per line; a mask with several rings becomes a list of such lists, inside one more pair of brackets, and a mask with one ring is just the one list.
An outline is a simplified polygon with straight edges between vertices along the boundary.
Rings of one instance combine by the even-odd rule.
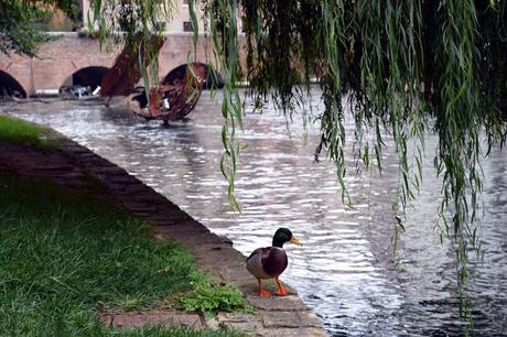
[[[194, 6], [191, 0], [197, 26]], [[439, 135], [439, 213], [444, 235], [456, 242], [464, 294], [468, 253], [479, 249], [481, 160], [507, 138], [507, 1], [204, 0], [198, 6], [206, 13], [213, 62], [225, 79], [222, 171], [231, 205], [239, 208], [234, 191], [241, 150], [236, 133], [244, 113], [238, 80], [248, 80], [250, 94], [272, 96], [292, 113], [304, 100], [301, 93], [317, 78], [324, 110], [316, 156], [335, 163], [344, 200], [345, 111], [354, 116], [354, 149], [366, 166], [374, 159], [381, 171], [382, 134], [392, 135], [401, 176], [399, 229], [421, 184], [424, 137]], [[172, 7], [160, 0], [95, 0], [94, 17], [103, 39], [118, 39], [114, 33], [121, 30], [122, 40], [141, 48], [142, 41], [161, 34], [154, 28]], [[150, 56], [155, 65], [157, 53]], [[460, 302], [463, 315], [470, 307], [465, 298]]]

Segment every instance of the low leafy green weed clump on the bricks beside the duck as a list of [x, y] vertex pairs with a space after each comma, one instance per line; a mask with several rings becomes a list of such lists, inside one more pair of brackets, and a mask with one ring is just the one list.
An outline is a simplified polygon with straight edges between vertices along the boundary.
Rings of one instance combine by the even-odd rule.
[[182, 307], [187, 312], [202, 312], [206, 316], [215, 316], [219, 311], [254, 312], [242, 293], [230, 285], [213, 284], [203, 274], [194, 274], [192, 285], [192, 293], [179, 297]]

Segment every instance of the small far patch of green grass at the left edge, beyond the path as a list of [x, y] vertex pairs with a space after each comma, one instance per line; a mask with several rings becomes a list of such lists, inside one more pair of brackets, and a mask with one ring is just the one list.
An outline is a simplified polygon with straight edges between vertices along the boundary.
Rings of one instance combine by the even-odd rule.
[[32, 144], [39, 148], [51, 148], [52, 144], [45, 139], [45, 130], [25, 121], [0, 116], [0, 142], [14, 142]]

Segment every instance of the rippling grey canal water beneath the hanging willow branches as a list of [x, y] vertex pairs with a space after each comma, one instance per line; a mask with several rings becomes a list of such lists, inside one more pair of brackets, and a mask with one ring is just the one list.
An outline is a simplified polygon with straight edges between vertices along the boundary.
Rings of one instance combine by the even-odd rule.
[[[434, 230], [441, 183], [428, 135], [428, 159], [419, 197], [407, 215], [407, 232], [392, 253], [393, 205], [399, 174], [386, 135], [384, 173], [356, 170], [346, 151], [346, 184], [354, 208], [341, 203], [335, 168], [314, 161], [322, 111], [319, 93], [305, 108], [308, 123], [288, 123], [272, 108], [247, 113], [247, 145], [236, 189], [242, 211], [234, 213], [219, 171], [220, 93], [205, 93], [187, 122], [161, 127], [100, 102], [3, 104], [0, 112], [50, 126], [125, 167], [248, 256], [269, 246], [274, 230], [288, 227], [305, 243], [287, 244], [290, 262], [282, 280], [294, 286], [333, 336], [456, 336], [456, 265], [452, 242]], [[269, 104], [268, 104], [269, 107]], [[249, 105], [247, 104], [247, 110]], [[353, 135], [350, 117], [346, 120]], [[348, 143], [352, 148], [352, 139]], [[478, 336], [507, 331], [507, 155], [495, 149], [485, 174], [483, 263], [473, 263], [471, 290]], [[255, 280], [252, 279], [252, 282]]]

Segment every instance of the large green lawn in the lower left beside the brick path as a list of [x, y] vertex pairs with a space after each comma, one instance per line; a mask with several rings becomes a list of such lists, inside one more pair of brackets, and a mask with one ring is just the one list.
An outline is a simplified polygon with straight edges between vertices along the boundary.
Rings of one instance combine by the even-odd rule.
[[[0, 171], [0, 336], [117, 335], [98, 312], [177, 305], [204, 280], [184, 249], [153, 240], [145, 224], [108, 203]], [[120, 334], [166, 335], [197, 336], [163, 327]]]

